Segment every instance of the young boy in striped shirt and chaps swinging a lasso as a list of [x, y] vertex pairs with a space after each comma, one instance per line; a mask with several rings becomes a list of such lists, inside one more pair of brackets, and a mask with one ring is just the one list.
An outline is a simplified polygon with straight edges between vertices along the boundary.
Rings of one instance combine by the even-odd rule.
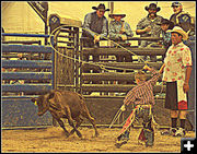
[[153, 76], [149, 81], [146, 81], [147, 76], [143, 71], [139, 71], [135, 74], [137, 86], [128, 92], [120, 110], [125, 111], [125, 106], [129, 104], [134, 104], [135, 109], [132, 109], [119, 135], [117, 137], [115, 146], [118, 149], [123, 144], [126, 144], [129, 140], [129, 129], [136, 117], [143, 119], [143, 128], [140, 132], [138, 140], [140, 142], [146, 142], [146, 146], [152, 146], [154, 142], [154, 130], [151, 126], [152, 121], [155, 122], [152, 115], [152, 106], [155, 104], [153, 96], [153, 86], [160, 78], [161, 73], [163, 72], [163, 67], [158, 72], [153, 68], [149, 68], [146, 64], [143, 67], [143, 70], [152, 72]]

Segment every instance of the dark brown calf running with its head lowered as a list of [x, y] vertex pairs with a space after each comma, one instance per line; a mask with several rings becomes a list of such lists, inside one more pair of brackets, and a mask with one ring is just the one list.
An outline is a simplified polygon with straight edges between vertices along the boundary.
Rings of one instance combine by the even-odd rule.
[[[69, 91], [51, 91], [45, 95], [40, 95], [38, 98], [32, 98], [33, 103], [36, 103], [38, 106], [38, 116], [43, 116], [47, 110], [50, 111], [54, 119], [56, 119], [59, 126], [66, 132], [66, 135], [69, 137], [74, 131], [78, 137], [81, 138], [82, 134], [78, 130], [78, 127], [82, 123], [83, 119], [80, 117], [85, 117], [93, 125], [95, 130], [95, 137], [99, 135], [95, 120], [90, 116], [89, 109], [84, 103], [83, 97], [74, 92]], [[73, 128], [69, 133], [63, 125], [61, 118], [67, 118], [69, 125]], [[74, 126], [73, 120], [77, 121]]]

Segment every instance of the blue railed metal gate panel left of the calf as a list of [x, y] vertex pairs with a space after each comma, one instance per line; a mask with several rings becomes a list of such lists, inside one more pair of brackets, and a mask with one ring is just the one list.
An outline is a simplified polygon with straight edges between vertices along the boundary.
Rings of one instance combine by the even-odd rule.
[[[2, 36], [43, 37], [49, 35], [8, 34]], [[54, 43], [54, 37], [51, 37]], [[19, 57], [22, 54], [22, 57]], [[49, 55], [49, 59], [40, 59]], [[15, 59], [13, 59], [13, 57]], [[34, 58], [32, 58], [34, 57]], [[20, 59], [21, 58], [21, 59]], [[31, 102], [54, 88], [54, 50], [42, 45], [2, 44], [2, 127], [51, 126], [49, 112], [37, 116]]]

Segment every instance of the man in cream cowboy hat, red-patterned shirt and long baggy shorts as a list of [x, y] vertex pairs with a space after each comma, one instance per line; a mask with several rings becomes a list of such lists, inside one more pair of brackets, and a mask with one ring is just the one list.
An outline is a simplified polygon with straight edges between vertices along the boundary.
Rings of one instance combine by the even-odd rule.
[[[187, 33], [179, 26], [171, 32], [172, 46], [166, 51], [163, 69], [163, 81], [166, 82], [165, 108], [170, 109], [171, 129], [161, 134], [173, 137], [185, 135], [185, 120], [188, 110], [188, 91], [192, 72], [192, 52], [183, 43], [188, 39]], [[179, 118], [181, 127], [176, 121]]]

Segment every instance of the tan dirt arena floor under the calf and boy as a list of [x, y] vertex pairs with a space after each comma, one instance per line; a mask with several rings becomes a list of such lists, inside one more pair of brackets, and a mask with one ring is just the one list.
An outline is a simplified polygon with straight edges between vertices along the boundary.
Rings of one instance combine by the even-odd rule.
[[[71, 129], [71, 128], [70, 128]], [[68, 128], [68, 130], [70, 130]], [[77, 134], [66, 138], [59, 127], [31, 130], [2, 130], [1, 152], [181, 152], [181, 138], [163, 137], [155, 130], [152, 147], [138, 143], [140, 129], [132, 129], [130, 140], [120, 149], [115, 147], [115, 138], [120, 128], [99, 128], [100, 137], [94, 138], [94, 129], [81, 127], [82, 139]], [[186, 138], [194, 138], [187, 132]]]

